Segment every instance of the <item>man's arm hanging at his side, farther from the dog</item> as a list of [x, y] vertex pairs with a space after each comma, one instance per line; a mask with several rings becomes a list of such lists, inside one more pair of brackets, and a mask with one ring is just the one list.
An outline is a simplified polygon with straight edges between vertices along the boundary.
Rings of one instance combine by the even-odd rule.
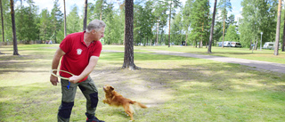
[[[64, 55], [65, 53], [61, 50], [61, 48], [57, 49], [56, 52], [54, 53], [53, 56], [53, 63], [52, 63], [52, 69], [57, 69], [60, 61], [61, 61], [61, 57]], [[57, 71], [53, 71], [54, 74], [57, 73]], [[53, 85], [57, 85], [57, 83], [59, 83], [58, 78], [54, 77], [53, 75], [51, 75], [50, 77], [50, 81], [52, 82]]]

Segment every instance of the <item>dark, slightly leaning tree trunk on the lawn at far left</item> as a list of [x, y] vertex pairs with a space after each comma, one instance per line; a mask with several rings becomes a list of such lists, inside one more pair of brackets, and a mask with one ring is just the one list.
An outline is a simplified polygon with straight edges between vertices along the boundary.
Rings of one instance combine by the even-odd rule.
[[12, 42], [13, 42], [13, 55], [20, 55], [18, 53], [16, 27], [15, 27], [15, 15], [14, 15], [14, 1], [10, 0], [11, 7], [11, 20], [12, 20]]

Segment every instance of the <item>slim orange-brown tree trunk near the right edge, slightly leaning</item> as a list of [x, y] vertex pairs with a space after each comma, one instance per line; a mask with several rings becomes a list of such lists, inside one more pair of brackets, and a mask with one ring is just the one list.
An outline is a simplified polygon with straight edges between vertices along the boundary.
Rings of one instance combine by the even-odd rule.
[[278, 12], [277, 12], [277, 26], [276, 26], [276, 36], [275, 36], [275, 45], [274, 45], [274, 55], [278, 55], [279, 50], [279, 38], [280, 38], [280, 23], [281, 23], [281, 0], [279, 0], [278, 4]]

